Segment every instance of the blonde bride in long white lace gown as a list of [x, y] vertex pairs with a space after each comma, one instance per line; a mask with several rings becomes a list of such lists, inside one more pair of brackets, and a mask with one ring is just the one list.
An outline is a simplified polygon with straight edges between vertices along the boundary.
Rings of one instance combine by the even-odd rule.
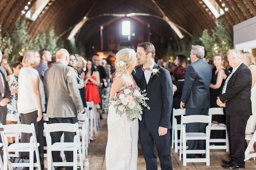
[[[136, 85], [131, 72], [137, 63], [133, 49], [124, 48], [116, 54], [116, 78], [110, 91], [112, 99], [122, 86]], [[119, 64], [122, 63], [122, 64]], [[125, 114], [118, 116], [112, 105], [108, 110], [107, 170], [137, 170], [138, 119], [129, 121]]]

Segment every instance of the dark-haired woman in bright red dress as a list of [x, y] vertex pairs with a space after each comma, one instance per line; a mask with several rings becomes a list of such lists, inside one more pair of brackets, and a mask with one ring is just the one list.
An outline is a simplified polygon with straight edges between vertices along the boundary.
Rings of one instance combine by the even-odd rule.
[[[84, 82], [85, 86], [85, 99], [87, 102], [94, 103], [95, 117], [97, 119], [97, 104], [100, 103], [98, 86], [100, 84], [99, 71], [96, 71], [93, 62], [87, 61]], [[91, 139], [93, 140], [93, 139]]]

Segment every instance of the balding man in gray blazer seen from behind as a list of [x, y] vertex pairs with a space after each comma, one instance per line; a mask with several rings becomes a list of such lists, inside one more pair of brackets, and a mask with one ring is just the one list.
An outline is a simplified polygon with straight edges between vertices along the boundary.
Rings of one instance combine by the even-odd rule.
[[[61, 48], [56, 53], [56, 64], [44, 75], [44, 88], [48, 99], [47, 116], [49, 123], [76, 123], [77, 113], [83, 113], [83, 103], [78, 89], [76, 73], [67, 66], [69, 53]], [[63, 132], [51, 133], [52, 143], [60, 142]], [[64, 142], [73, 142], [75, 133], [64, 132]], [[67, 161], [73, 161], [73, 152], [65, 151]], [[62, 161], [60, 152], [52, 152], [53, 161]], [[67, 169], [67, 168], [66, 168]]]

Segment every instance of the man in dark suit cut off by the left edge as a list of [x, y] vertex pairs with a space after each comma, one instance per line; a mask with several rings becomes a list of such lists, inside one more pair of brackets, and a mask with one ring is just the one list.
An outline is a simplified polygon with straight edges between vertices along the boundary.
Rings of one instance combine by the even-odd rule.
[[[0, 50], [0, 61], [3, 58], [2, 51]], [[1, 66], [0, 66], [1, 67]], [[9, 84], [7, 81], [6, 74], [0, 69], [0, 122], [6, 125], [6, 114], [7, 114], [7, 103], [10, 100], [11, 91], [9, 89]], [[0, 142], [2, 142], [0, 136]], [[2, 148], [0, 148], [2, 150]]]

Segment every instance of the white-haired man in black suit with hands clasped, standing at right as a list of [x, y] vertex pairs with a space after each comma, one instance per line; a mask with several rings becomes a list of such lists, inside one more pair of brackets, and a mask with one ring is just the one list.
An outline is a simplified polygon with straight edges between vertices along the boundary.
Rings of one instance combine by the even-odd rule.
[[233, 68], [227, 77], [217, 105], [226, 107], [227, 135], [230, 143], [230, 160], [222, 162], [222, 167], [236, 169], [244, 167], [244, 138], [247, 120], [252, 114], [250, 90], [252, 75], [250, 69], [241, 61], [241, 53], [230, 50], [227, 53], [230, 66]]

